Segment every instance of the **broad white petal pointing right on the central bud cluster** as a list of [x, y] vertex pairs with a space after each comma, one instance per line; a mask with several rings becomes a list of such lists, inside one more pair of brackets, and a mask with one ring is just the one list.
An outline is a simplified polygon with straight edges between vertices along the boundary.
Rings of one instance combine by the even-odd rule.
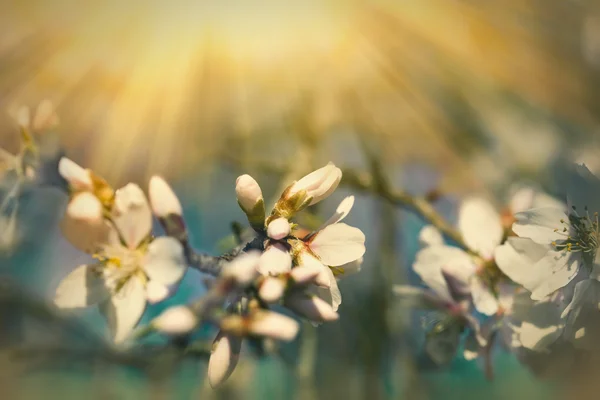
[[309, 245], [323, 264], [337, 267], [365, 254], [365, 234], [344, 223], [333, 224], [318, 232]]

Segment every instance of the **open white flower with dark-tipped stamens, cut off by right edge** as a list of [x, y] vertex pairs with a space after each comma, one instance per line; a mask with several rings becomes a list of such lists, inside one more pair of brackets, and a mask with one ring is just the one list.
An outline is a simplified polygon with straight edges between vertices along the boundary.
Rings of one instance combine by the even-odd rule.
[[[510, 241], [500, 268], [541, 300], [576, 276], [598, 278], [600, 181], [585, 166], [576, 166], [567, 182], [569, 207], [541, 207], [515, 215]], [[527, 240], [529, 239], [529, 240]], [[519, 258], [535, 261], [530, 269], [515, 268]], [[514, 261], [517, 260], [517, 261]]]

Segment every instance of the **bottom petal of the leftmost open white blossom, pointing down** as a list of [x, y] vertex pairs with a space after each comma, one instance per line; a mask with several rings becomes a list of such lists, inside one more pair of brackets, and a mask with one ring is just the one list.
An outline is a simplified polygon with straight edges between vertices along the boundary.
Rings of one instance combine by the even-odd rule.
[[110, 299], [102, 304], [104, 314], [115, 343], [121, 343], [131, 333], [146, 309], [146, 290], [137, 277], [130, 278]]

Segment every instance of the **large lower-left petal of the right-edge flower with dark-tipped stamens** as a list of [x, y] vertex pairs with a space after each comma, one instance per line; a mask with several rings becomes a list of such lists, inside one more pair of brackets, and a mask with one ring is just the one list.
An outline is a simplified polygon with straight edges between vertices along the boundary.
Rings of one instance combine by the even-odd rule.
[[542, 300], [566, 286], [577, 274], [577, 255], [557, 252], [524, 238], [509, 238], [495, 252], [496, 263], [514, 282]]

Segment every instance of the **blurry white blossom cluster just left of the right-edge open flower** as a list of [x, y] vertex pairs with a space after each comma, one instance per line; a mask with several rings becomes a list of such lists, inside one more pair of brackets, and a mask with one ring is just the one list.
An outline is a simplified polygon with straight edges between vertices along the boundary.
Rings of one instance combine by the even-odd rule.
[[413, 269], [426, 288], [397, 286], [395, 292], [410, 306], [437, 312], [425, 344], [435, 362], [451, 361], [464, 340], [464, 357], [482, 357], [491, 374], [489, 355], [495, 342], [520, 354], [539, 351], [545, 335], [551, 334], [539, 322], [540, 298], [529, 299], [522, 281], [509, 272], [529, 268], [524, 259], [517, 266], [507, 249], [520, 240], [515, 237], [518, 218], [531, 207], [561, 207], [561, 203], [531, 188], [517, 190], [502, 213], [483, 198], [467, 198], [458, 211], [462, 246], [445, 243], [433, 226], [422, 229], [422, 248]]

